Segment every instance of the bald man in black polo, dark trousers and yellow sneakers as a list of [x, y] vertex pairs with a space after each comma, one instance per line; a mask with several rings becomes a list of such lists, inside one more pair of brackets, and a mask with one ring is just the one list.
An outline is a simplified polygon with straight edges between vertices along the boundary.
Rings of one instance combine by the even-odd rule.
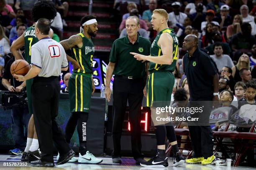
[[[187, 35], [184, 38], [182, 47], [183, 50], [187, 51], [187, 54], [183, 57], [183, 63], [189, 85], [190, 102], [218, 101], [218, 71], [210, 56], [198, 49], [197, 36]], [[206, 165], [211, 164], [215, 159], [212, 154], [212, 130], [209, 125], [205, 126], [209, 123], [212, 103], [199, 103], [201, 103], [200, 107], [204, 107], [203, 112], [198, 113], [199, 120], [205, 118], [207, 122], [204, 125], [197, 124], [197, 126], [189, 126], [195, 155], [194, 158], [186, 160], [186, 162]]]

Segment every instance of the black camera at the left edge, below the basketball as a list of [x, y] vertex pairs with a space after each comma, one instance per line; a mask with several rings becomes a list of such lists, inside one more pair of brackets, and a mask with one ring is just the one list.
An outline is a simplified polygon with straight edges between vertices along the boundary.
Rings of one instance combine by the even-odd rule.
[[9, 92], [0, 90], [0, 107], [10, 110], [17, 107], [27, 107], [27, 91]]

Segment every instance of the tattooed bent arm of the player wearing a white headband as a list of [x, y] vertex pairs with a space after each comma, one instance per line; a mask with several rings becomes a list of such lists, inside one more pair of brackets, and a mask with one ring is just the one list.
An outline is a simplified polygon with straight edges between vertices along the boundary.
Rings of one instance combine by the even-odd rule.
[[[71, 37], [69, 37], [69, 39], [62, 40], [59, 43], [64, 47], [64, 50], [69, 50], [74, 46], [82, 47], [83, 42], [82, 42], [82, 38], [79, 35], [72, 35]], [[77, 70], [78, 68], [82, 70], [82, 67], [79, 65], [79, 63], [69, 55], [67, 55], [67, 60], [72, 62], [74, 70]]]

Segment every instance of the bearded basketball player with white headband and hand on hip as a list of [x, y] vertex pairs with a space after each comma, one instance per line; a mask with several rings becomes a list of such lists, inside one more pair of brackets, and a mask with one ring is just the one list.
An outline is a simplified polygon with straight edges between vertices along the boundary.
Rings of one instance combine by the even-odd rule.
[[72, 35], [60, 44], [65, 50], [71, 49], [72, 58], [79, 62], [82, 69], [74, 69], [69, 78], [69, 102], [71, 116], [66, 126], [66, 140], [70, 143], [77, 126], [79, 137], [79, 158], [73, 158], [70, 162], [101, 163], [102, 159], [89, 153], [86, 146], [87, 120], [90, 112], [91, 96], [95, 91], [92, 79], [92, 57], [94, 45], [91, 37], [97, 33], [97, 20], [95, 16], [87, 15], [81, 19], [80, 33]]

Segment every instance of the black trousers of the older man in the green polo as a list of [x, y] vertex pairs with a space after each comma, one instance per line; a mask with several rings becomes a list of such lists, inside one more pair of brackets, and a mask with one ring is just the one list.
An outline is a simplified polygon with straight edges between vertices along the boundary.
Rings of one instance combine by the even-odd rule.
[[127, 79], [115, 76], [113, 84], [113, 158], [121, 157], [121, 134], [127, 100], [130, 108], [131, 147], [133, 158], [143, 158], [141, 155], [141, 105], [143, 99], [143, 78]]

